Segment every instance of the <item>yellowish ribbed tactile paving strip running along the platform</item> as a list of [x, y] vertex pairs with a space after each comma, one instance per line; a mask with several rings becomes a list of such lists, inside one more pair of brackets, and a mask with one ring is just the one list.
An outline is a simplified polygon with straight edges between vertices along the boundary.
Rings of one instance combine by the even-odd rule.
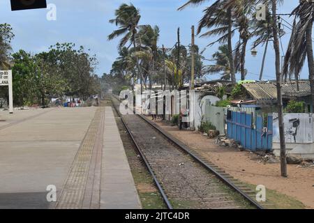
[[89, 130], [85, 135], [82, 144], [77, 151], [72, 164], [66, 184], [61, 191], [61, 196], [57, 201], [57, 209], [79, 209], [82, 208], [84, 191], [87, 185], [91, 155], [93, 153], [98, 126], [104, 108], [96, 110], [95, 116], [89, 125]]

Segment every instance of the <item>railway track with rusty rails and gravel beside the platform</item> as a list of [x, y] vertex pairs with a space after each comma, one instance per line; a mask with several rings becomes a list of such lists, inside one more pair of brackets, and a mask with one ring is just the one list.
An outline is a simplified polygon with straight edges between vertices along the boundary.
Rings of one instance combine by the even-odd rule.
[[[121, 115], [112, 106], [147, 166], [167, 208], [262, 208], [254, 192], [214, 164], [202, 160], [144, 116]], [[242, 188], [242, 189], [241, 189]]]

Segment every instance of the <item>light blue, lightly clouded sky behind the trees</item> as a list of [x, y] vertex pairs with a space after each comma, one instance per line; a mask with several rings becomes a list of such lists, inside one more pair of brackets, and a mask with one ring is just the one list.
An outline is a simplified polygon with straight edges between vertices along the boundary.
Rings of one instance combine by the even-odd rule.
[[[46, 18], [49, 9], [10, 10], [10, 0], [0, 1], [0, 23], [8, 23], [13, 27], [15, 39], [12, 42], [13, 51], [24, 49], [36, 54], [49, 49], [56, 43], [75, 43], [90, 49], [98, 59], [98, 75], [110, 72], [112, 62], [117, 58], [117, 45], [119, 38], [108, 41], [107, 36], [117, 29], [108, 21], [114, 19], [114, 10], [121, 3], [133, 3], [140, 9], [140, 24], [158, 25], [160, 27], [160, 39], [158, 45], [171, 48], [177, 42], [177, 28], [181, 30], [181, 44], [190, 44], [190, 27], [197, 26], [202, 17], [202, 10], [213, 1], [209, 0], [197, 7], [188, 7], [183, 11], [177, 8], [186, 3], [187, 0], [47, 0], [57, 6], [57, 20], [49, 21]], [[278, 7], [278, 13], [290, 13], [297, 6], [299, 0], [285, 1], [283, 6]], [[284, 17], [292, 24], [291, 19]], [[286, 24], [289, 26], [289, 24]], [[285, 52], [290, 38], [290, 29], [285, 30], [287, 35], [283, 36], [282, 44]], [[219, 44], [207, 47], [215, 38], [195, 39], [195, 44], [204, 51], [204, 56], [211, 59]], [[237, 36], [234, 37], [234, 45]], [[257, 47], [257, 56], [251, 56], [251, 45], [248, 46], [246, 56], [246, 79], [258, 79], [262, 66], [262, 54], [264, 47]], [[281, 51], [281, 54], [284, 52]], [[263, 79], [275, 79], [275, 54], [273, 45], [269, 45], [267, 59], [264, 68]], [[209, 63], [209, 62], [206, 62]], [[219, 75], [208, 75], [207, 79], [218, 79]], [[237, 79], [240, 74], [237, 74]], [[301, 72], [301, 78], [308, 78], [307, 63]]]

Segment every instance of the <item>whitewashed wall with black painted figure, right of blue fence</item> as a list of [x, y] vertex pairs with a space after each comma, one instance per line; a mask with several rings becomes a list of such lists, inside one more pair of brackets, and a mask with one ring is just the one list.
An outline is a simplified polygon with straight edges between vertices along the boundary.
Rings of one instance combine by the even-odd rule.
[[[280, 142], [278, 128], [278, 114], [273, 114], [273, 141]], [[285, 127], [285, 142], [294, 144], [313, 143], [313, 116], [312, 114], [290, 113], [283, 114]]]

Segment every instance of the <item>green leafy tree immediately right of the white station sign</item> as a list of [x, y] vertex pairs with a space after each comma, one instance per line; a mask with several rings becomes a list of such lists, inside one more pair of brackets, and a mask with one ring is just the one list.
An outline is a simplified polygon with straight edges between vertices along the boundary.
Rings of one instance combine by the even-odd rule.
[[20, 50], [13, 54], [13, 95], [16, 105], [47, 105], [52, 97], [66, 91], [66, 80], [43, 59], [43, 53], [32, 56]]

